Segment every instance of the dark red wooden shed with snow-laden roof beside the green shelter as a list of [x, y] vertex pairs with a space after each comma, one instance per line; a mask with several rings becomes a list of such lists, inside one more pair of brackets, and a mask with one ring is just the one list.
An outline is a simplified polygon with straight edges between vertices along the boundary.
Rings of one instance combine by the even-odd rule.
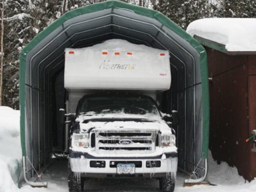
[[[250, 21], [237, 20], [245, 23]], [[251, 29], [243, 27], [244, 36], [237, 37], [242, 38], [241, 45], [236, 41], [236, 46], [234, 44], [230, 46], [231, 41], [236, 37], [229, 32], [239, 30], [237, 20], [229, 21], [233, 25], [226, 25], [226, 21], [222, 22], [222, 20], [217, 23], [222, 30], [219, 35], [228, 34], [226, 44], [219, 43], [225, 41], [224, 38], [219, 37], [222, 38], [220, 41], [218, 37], [211, 38], [210, 33], [202, 32], [202, 28], [201, 32], [197, 33], [195, 26], [192, 27], [193, 33], [190, 34], [205, 47], [207, 52], [210, 90], [209, 148], [213, 158], [218, 163], [225, 161], [230, 166], [236, 166], [238, 173], [251, 181], [256, 177], [255, 137], [249, 142], [246, 142], [246, 139], [252, 136], [253, 130], [256, 130], [256, 38], [250, 39], [250, 34], [247, 33], [256, 34], [256, 20], [252, 22]], [[214, 27], [215, 23], [211, 23], [211, 19], [206, 19], [204, 22]], [[207, 28], [205, 25], [202, 27]], [[215, 28], [218, 30], [218, 26]], [[237, 33], [237, 36], [241, 35], [239, 31]], [[246, 42], [242, 42], [243, 39]]]

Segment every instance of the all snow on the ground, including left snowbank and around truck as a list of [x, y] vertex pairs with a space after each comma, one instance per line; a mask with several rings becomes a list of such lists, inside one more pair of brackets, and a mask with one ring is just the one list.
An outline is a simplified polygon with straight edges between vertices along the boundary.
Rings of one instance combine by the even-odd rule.
[[[32, 188], [24, 182], [20, 189], [17, 187], [21, 174], [19, 111], [0, 107], [0, 121], [0, 192], [68, 192], [67, 161], [58, 159], [54, 159], [43, 175], [43, 180], [48, 182], [47, 188]], [[229, 167], [225, 162], [217, 165], [211, 154], [209, 155], [208, 177], [217, 186], [183, 187], [183, 181], [187, 179], [187, 175], [178, 173], [175, 191], [252, 192], [256, 189], [256, 179], [245, 183], [235, 167]], [[158, 181], [150, 179], [87, 179], [85, 187], [87, 192], [159, 191]]]

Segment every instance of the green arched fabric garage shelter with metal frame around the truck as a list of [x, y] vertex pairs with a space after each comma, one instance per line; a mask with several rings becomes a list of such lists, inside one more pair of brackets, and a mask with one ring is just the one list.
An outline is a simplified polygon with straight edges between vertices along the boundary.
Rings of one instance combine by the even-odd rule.
[[[209, 91], [204, 48], [163, 14], [118, 1], [107, 1], [65, 13], [38, 34], [20, 57], [20, 129], [23, 167], [33, 175], [61, 149], [65, 108], [64, 50], [120, 38], [169, 50], [172, 85], [158, 95], [164, 112], [179, 111], [177, 130], [180, 170], [193, 172], [191, 182], [207, 172]], [[29, 159], [29, 161], [26, 161]], [[200, 179], [201, 178], [201, 179]]]

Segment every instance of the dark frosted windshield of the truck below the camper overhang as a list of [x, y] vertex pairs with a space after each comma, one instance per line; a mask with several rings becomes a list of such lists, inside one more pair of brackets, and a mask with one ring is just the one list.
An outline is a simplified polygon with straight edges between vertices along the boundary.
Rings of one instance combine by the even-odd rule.
[[147, 97], [91, 97], [83, 98], [78, 106], [78, 115], [94, 112], [95, 114], [153, 114], [159, 115], [154, 101]]

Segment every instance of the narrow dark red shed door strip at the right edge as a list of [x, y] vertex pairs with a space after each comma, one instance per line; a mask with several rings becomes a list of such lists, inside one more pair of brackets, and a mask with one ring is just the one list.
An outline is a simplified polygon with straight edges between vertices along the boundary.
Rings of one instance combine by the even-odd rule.
[[[256, 129], [256, 55], [248, 57], [248, 95], [249, 95], [249, 130], [248, 137], [251, 136], [252, 130]], [[247, 144], [249, 151], [250, 169], [248, 177], [250, 180], [256, 177], [256, 153], [251, 151], [253, 143]]]

